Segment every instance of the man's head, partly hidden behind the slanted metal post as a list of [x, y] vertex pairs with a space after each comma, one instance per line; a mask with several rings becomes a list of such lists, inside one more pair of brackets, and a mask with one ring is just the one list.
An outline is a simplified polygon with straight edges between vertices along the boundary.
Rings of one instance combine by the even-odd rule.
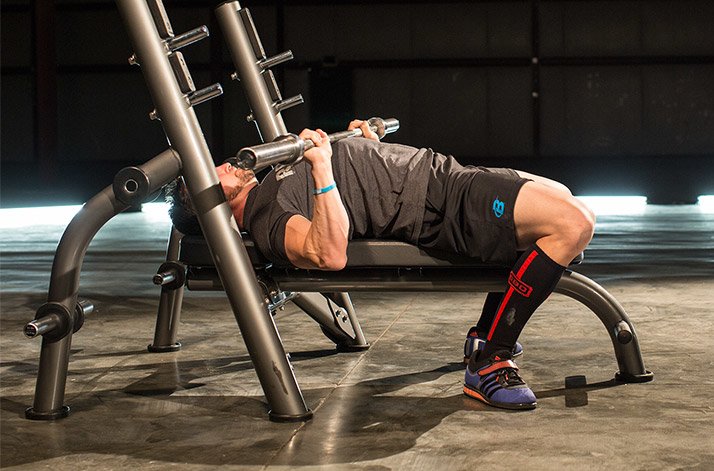
[[[223, 194], [228, 201], [238, 225], [243, 227], [243, 209], [248, 192], [258, 180], [252, 170], [245, 170], [226, 162], [216, 167]], [[166, 185], [164, 190], [169, 204], [169, 216], [176, 229], [184, 234], [201, 234], [196, 210], [186, 190], [183, 178], [179, 177]]]

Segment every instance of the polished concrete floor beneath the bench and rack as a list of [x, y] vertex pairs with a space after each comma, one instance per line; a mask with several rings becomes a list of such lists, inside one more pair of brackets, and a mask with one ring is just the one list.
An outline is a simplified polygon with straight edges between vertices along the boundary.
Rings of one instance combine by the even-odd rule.
[[[306, 315], [276, 322], [307, 423], [267, 406], [221, 293], [188, 292], [183, 349], [152, 354], [164, 216], [120, 215], [87, 253], [80, 297], [95, 313], [73, 337], [56, 422], [24, 419], [39, 340], [23, 325], [46, 297], [61, 223], [0, 229], [1, 466], [13, 469], [714, 469], [714, 214], [654, 206], [603, 215], [577, 270], [637, 328], [655, 380], [618, 384], [604, 327], [554, 295], [521, 340], [539, 407], [507, 412], [461, 393], [462, 338], [483, 294], [357, 293], [372, 347], [335, 353]], [[12, 216], [18, 218], [17, 214]], [[2, 224], [2, 222], [0, 222]], [[586, 385], [566, 388], [566, 378]]]

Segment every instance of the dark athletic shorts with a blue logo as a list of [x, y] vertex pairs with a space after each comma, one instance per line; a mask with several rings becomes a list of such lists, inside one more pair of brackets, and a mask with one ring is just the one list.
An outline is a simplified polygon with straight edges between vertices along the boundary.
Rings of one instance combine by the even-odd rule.
[[518, 258], [513, 207], [528, 181], [512, 169], [462, 166], [436, 155], [419, 246], [512, 265]]

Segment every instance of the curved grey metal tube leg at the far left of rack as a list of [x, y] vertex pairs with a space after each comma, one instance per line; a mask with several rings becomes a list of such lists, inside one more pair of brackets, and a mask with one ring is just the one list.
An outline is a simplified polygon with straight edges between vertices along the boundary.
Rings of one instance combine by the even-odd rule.
[[[176, 178], [180, 161], [176, 153], [168, 149], [139, 168], [149, 175], [149, 190], [153, 193]], [[113, 186], [109, 185], [85, 203], [72, 218], [55, 252], [48, 303], [60, 304], [68, 312], [75, 309], [79, 276], [90, 242], [104, 224], [129, 207], [130, 204], [117, 199]], [[54, 420], [69, 414], [69, 406], [63, 403], [71, 344], [72, 329], [68, 335], [57, 340], [43, 337], [35, 396], [32, 407], [25, 411], [27, 418]]]

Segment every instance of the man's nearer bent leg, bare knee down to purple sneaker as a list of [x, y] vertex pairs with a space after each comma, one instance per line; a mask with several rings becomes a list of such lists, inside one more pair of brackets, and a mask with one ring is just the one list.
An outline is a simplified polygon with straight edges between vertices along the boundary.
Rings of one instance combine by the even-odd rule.
[[511, 348], [565, 267], [590, 242], [595, 221], [569, 192], [534, 181], [521, 188], [514, 223], [518, 248], [525, 252], [511, 271], [483, 351], [471, 356], [464, 392], [500, 407], [532, 408], [535, 396], [518, 376]]

